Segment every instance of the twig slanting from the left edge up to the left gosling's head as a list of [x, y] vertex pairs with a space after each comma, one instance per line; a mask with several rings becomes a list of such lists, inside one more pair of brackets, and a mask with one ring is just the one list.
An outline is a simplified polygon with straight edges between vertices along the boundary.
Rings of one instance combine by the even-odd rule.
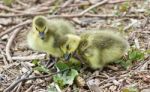
[[25, 21], [25, 22], [22, 22], [22, 23], [20, 23], [20, 24], [18, 24], [18, 25], [16, 25], [16, 26], [13, 26], [13, 27], [7, 29], [6, 31], [4, 31], [4, 32], [2, 32], [2, 33], [0, 34], [0, 38], [1, 38], [2, 36], [4, 36], [5, 34], [9, 33], [9, 32], [12, 32], [14, 29], [16, 29], [16, 28], [18, 28], [18, 27], [20, 27], [20, 26], [27, 25], [27, 24], [29, 24], [29, 23], [31, 23], [31, 20], [27, 20], [27, 21]]

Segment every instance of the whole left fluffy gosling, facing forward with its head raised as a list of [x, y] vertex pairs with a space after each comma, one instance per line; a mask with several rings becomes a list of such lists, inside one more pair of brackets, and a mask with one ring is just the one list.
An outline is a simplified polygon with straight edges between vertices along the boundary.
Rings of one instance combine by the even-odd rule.
[[27, 43], [33, 50], [46, 52], [53, 57], [61, 57], [60, 41], [75, 34], [74, 27], [63, 19], [48, 20], [44, 16], [36, 16], [32, 22], [32, 30], [27, 35]]

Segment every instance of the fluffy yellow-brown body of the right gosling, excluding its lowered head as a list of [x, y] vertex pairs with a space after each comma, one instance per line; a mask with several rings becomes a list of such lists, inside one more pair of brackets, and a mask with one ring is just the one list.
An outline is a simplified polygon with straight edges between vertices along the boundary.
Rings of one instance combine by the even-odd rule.
[[128, 49], [128, 42], [111, 31], [86, 31], [80, 35], [78, 54], [92, 69], [103, 67], [121, 58]]

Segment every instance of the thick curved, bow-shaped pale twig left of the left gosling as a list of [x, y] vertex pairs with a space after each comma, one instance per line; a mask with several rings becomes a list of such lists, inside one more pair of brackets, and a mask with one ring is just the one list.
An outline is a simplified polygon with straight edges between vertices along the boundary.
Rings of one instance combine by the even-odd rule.
[[8, 42], [7, 42], [7, 44], [6, 44], [6, 57], [7, 57], [7, 60], [8, 60], [9, 62], [12, 62], [12, 58], [11, 58], [11, 54], [10, 54], [10, 47], [11, 47], [11, 45], [12, 45], [12, 42], [13, 42], [15, 36], [16, 36], [17, 33], [20, 31], [20, 29], [21, 29], [21, 28], [18, 28], [18, 29], [16, 29], [16, 30], [13, 32], [12, 36], [9, 38], [9, 40], [8, 40]]

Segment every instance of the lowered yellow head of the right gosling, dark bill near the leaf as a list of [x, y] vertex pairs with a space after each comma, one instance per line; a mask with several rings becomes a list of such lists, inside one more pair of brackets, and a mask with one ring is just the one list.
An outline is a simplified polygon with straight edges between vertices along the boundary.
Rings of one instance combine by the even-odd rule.
[[63, 52], [63, 57], [65, 60], [69, 60], [72, 54], [76, 51], [78, 48], [78, 45], [80, 43], [80, 37], [73, 34], [66, 35], [66, 40], [63, 42], [63, 44], [60, 46], [61, 51]]

